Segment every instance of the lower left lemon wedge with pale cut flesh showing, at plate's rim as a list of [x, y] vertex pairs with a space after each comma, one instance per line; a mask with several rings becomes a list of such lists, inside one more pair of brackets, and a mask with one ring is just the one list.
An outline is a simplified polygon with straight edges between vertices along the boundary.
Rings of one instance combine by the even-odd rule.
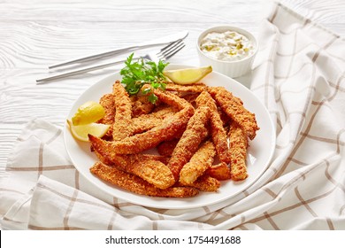
[[85, 125], [73, 125], [71, 120], [67, 120], [68, 126], [71, 130], [71, 134], [74, 138], [88, 142], [88, 134], [96, 137], [103, 137], [111, 125], [101, 123], [88, 123]]

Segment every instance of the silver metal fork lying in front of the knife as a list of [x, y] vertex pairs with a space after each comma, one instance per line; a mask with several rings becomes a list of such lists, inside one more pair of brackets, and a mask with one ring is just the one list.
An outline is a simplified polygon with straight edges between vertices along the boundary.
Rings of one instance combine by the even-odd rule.
[[[173, 43], [169, 43], [168, 45], [166, 45], [164, 48], [162, 48], [161, 50], [159, 50], [157, 53], [155, 52], [151, 52], [148, 53], [142, 57], [139, 58], [144, 58], [144, 59], [148, 59], [148, 60], [152, 60], [152, 61], [159, 61], [159, 60], [167, 60], [169, 58], [172, 58], [173, 55], [175, 55], [179, 50], [181, 50], [182, 48], [185, 47], [185, 44], [183, 43], [182, 39], [177, 40]], [[138, 59], [138, 58], [134, 58], [134, 59]], [[36, 80], [36, 84], [42, 84], [42, 83], [47, 83], [50, 81], [55, 81], [58, 79], [63, 79], [65, 77], [69, 77], [69, 76], [73, 76], [73, 75], [78, 75], [78, 74], [85, 74], [88, 72], [92, 72], [92, 71], [96, 71], [96, 70], [100, 70], [106, 67], [110, 67], [110, 66], [116, 66], [119, 65], [121, 63], [124, 63], [126, 60], [119, 60], [116, 62], [111, 62], [108, 64], [103, 64], [100, 66], [91, 66], [91, 67], [87, 67], [84, 69], [80, 69], [77, 71], [73, 71], [73, 72], [69, 72], [69, 73], [65, 73], [65, 74], [58, 74], [55, 76], [50, 76], [50, 77], [46, 77], [46, 78], [42, 78], [42, 79], [38, 79]]]

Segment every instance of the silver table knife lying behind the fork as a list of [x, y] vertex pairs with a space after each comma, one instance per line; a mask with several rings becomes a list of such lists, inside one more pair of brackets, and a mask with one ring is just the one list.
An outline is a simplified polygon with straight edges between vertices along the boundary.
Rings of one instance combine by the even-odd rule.
[[124, 52], [124, 51], [138, 50], [138, 49], [149, 48], [152, 46], [163, 45], [163, 44], [167, 44], [167, 43], [173, 43], [179, 39], [183, 40], [187, 36], [188, 36], [188, 31], [184, 30], [184, 31], [181, 31], [179, 33], [176, 33], [173, 35], [166, 35], [164, 37], [160, 37], [160, 38], [157, 38], [155, 40], [152, 40], [152, 41], [149, 41], [146, 43], [140, 43], [138, 45], [128, 46], [128, 47], [124, 47], [124, 48], [120, 48], [120, 49], [116, 49], [116, 50], [109, 50], [109, 51], [90, 55], [90, 56], [83, 57], [83, 58], [76, 58], [76, 59], [73, 59], [70, 61], [65, 61], [63, 63], [48, 66], [48, 68], [53, 69], [53, 68], [58, 68], [61, 66], [69, 66], [69, 65], [78, 64], [78, 63], [85, 62], [85, 61], [91, 61], [91, 60], [94, 60], [97, 58], [104, 58], [104, 57], [116, 55], [116, 54], [119, 54], [119, 53]]

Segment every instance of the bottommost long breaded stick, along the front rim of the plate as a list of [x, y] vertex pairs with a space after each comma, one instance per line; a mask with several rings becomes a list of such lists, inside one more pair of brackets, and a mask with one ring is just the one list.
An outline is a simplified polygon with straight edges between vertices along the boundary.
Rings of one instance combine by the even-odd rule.
[[198, 194], [198, 190], [187, 187], [171, 187], [160, 190], [134, 174], [127, 174], [116, 167], [109, 167], [101, 162], [96, 162], [90, 168], [90, 172], [106, 182], [140, 195], [163, 198], [189, 198]]

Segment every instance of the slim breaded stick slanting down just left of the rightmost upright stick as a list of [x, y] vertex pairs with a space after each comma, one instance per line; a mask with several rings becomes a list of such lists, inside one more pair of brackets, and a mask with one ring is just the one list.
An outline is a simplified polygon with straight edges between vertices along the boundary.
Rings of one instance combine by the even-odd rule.
[[208, 106], [211, 111], [210, 124], [211, 124], [211, 137], [214, 145], [216, 146], [219, 160], [230, 163], [230, 151], [227, 144], [226, 130], [223, 127], [223, 121], [219, 116], [217, 105], [211, 95], [207, 91], [203, 91], [199, 97], [196, 98], [196, 105]]

